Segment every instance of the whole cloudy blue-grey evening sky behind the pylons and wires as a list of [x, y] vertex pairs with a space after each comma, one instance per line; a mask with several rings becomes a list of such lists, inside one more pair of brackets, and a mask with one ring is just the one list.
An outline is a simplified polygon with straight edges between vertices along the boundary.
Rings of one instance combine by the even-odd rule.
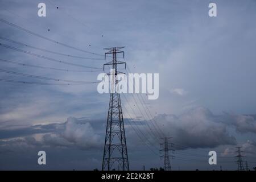
[[[40, 2], [46, 17], [38, 16]], [[210, 2], [217, 17], [208, 15]], [[255, 167], [255, 9], [254, 0], [1, 0], [0, 169], [101, 168], [109, 94], [99, 94], [97, 84], [4, 80], [67, 84], [15, 72], [97, 81], [103, 48], [116, 46], [126, 46], [129, 72], [159, 73], [158, 100], [121, 95], [130, 169], [163, 166], [158, 127], [172, 137], [175, 170], [236, 169], [237, 146]], [[40, 150], [46, 166], [37, 163]], [[217, 165], [208, 164], [210, 150]]]

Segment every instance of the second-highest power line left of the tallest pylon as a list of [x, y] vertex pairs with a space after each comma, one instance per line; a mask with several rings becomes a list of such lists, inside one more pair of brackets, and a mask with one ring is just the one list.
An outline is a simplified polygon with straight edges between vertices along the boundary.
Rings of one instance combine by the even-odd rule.
[[38, 47], [35, 47], [35, 46], [30, 46], [30, 45], [28, 45], [28, 44], [26, 44], [26, 43], [18, 42], [18, 41], [16, 41], [16, 40], [11, 40], [11, 39], [8, 39], [8, 38], [3, 38], [2, 36], [0, 36], [0, 39], [6, 40], [6, 41], [8, 41], [8, 42], [15, 43], [15, 44], [18, 44], [18, 45], [21, 45], [21, 46], [26, 46], [26, 47], [29, 47], [29, 48], [37, 49], [37, 50], [39, 50], [39, 51], [44, 51], [44, 52], [53, 53], [53, 54], [55, 54], [55, 55], [67, 56], [67, 57], [74, 57], [74, 58], [78, 58], [78, 59], [104, 60], [104, 59], [98, 59], [98, 58], [92, 58], [92, 57], [82, 57], [82, 56], [69, 55], [69, 54], [66, 54], [66, 53], [60, 53], [60, 52], [55, 52], [55, 51], [49, 51], [49, 50], [47, 50], [47, 49], [38, 48]]

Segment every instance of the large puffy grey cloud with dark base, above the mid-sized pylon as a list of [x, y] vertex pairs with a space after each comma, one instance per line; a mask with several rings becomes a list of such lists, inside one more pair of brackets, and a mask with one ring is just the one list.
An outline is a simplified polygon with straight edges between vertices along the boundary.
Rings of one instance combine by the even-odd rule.
[[166, 135], [174, 137], [172, 142], [187, 148], [236, 144], [236, 138], [229, 135], [226, 125], [216, 122], [216, 116], [204, 107], [196, 107], [181, 115], [160, 114], [155, 121], [162, 123]]

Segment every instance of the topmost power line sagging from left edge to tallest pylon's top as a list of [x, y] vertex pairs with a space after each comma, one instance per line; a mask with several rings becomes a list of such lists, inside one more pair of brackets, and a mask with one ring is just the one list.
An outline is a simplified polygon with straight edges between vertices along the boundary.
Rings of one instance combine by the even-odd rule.
[[68, 47], [68, 48], [72, 48], [72, 49], [75, 49], [76, 51], [81, 51], [81, 52], [85, 52], [85, 53], [90, 53], [90, 54], [92, 54], [92, 55], [97, 55], [97, 56], [103, 56], [103, 55], [101, 55], [101, 54], [99, 54], [99, 53], [90, 52], [90, 51], [85, 51], [84, 49], [76, 48], [76, 47], [73, 47], [73, 46], [69, 46], [68, 44], [61, 43], [61, 42], [58, 42], [58, 41], [53, 40], [53, 39], [49, 39], [49, 38], [47, 38], [46, 36], [43, 36], [43, 35], [37, 34], [37, 33], [35, 33], [35, 32], [32, 32], [32, 31], [30, 31], [30, 30], [27, 30], [26, 28], [20, 27], [20, 26], [14, 24], [14, 23], [8, 22], [7, 20], [4, 20], [4, 19], [2, 19], [2, 18], [0, 18], [0, 21], [3, 22], [3, 23], [9, 24], [10, 26], [13, 26], [13, 27], [15, 27], [15, 28], [18, 28], [19, 30], [25, 31], [25, 32], [27, 32], [28, 34], [31, 34], [31, 35], [34, 35], [34, 36], [38, 36], [39, 38], [48, 40], [49, 42], [56, 43], [56, 44], [60, 44], [61, 46]]

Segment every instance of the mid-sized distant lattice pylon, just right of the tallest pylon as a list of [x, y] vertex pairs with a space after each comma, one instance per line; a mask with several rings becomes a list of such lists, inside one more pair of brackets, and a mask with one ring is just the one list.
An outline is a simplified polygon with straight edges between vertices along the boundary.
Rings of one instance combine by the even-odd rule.
[[163, 149], [160, 150], [160, 152], [164, 151], [164, 155], [162, 155], [161, 157], [164, 157], [164, 171], [171, 171], [171, 164], [170, 164], [170, 156], [171, 158], [173, 158], [173, 155], [169, 155], [169, 151], [174, 151], [170, 148], [168, 139], [171, 139], [171, 137], [163, 137], [160, 138], [163, 139], [164, 142], [160, 143], [161, 146], [163, 146]]

